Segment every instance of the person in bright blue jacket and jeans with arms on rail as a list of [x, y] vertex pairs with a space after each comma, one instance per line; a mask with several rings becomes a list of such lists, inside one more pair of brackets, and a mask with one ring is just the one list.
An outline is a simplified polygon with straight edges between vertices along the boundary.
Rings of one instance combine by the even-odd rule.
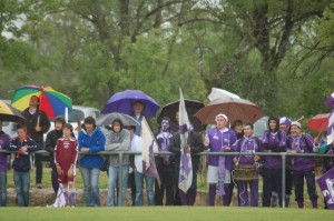
[[97, 153], [105, 150], [106, 138], [92, 117], [84, 120], [84, 129], [78, 134], [80, 171], [85, 184], [85, 201], [87, 207], [100, 207], [99, 175], [104, 167], [104, 158]]

